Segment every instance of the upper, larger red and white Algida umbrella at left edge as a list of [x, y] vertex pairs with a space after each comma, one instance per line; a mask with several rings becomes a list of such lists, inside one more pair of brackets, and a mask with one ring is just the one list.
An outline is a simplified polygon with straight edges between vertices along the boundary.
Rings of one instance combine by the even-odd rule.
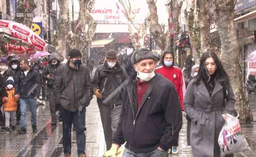
[[8, 20], [0, 20], [0, 27], [9, 29], [13, 33], [13, 37], [22, 39], [29, 46], [33, 47], [33, 49], [35, 50], [33, 52], [34, 54], [36, 53], [36, 51], [47, 51], [48, 44], [28, 27], [20, 23]]

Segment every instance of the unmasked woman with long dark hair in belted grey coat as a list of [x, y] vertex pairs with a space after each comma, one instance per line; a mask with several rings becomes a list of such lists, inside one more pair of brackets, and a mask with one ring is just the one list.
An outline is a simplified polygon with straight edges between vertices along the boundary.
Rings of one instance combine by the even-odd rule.
[[219, 132], [225, 123], [225, 113], [234, 111], [234, 103], [229, 76], [217, 55], [211, 51], [203, 53], [199, 72], [188, 84], [183, 102], [192, 120], [190, 142], [194, 157], [220, 156]]

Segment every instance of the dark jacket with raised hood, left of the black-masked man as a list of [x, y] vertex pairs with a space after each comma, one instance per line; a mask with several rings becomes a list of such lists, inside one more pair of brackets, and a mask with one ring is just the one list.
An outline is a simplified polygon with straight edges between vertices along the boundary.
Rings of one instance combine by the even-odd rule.
[[[56, 65], [51, 64], [52, 59], [57, 59]], [[43, 75], [42, 75], [43, 79], [47, 80], [48, 89], [53, 88], [53, 79], [47, 79], [47, 75], [54, 76], [55, 71], [59, 66], [60, 66], [60, 60], [57, 58], [57, 56], [54, 53], [51, 53], [49, 64], [44, 68]]]

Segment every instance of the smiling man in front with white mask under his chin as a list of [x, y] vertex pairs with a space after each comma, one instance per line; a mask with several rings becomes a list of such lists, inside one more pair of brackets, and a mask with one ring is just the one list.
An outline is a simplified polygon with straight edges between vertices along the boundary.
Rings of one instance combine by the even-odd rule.
[[155, 59], [144, 48], [131, 58], [136, 73], [123, 89], [123, 109], [112, 144], [118, 150], [126, 141], [126, 157], [166, 157], [181, 130], [179, 97], [169, 80], [155, 74]]

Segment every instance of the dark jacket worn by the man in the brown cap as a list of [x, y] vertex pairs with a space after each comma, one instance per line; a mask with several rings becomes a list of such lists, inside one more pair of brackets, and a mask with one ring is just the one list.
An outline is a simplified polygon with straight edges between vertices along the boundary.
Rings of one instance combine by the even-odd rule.
[[[97, 86], [96, 89], [100, 89], [102, 99], [97, 99], [97, 102], [102, 104], [102, 100], [106, 99], [115, 89], [120, 86], [124, 80], [128, 79], [126, 71], [120, 66], [119, 62], [110, 68], [107, 62], [99, 66], [93, 77], [93, 84]], [[95, 89], [95, 90], [96, 90]], [[115, 95], [106, 106], [119, 106], [122, 104], [122, 98], [120, 93]]]

